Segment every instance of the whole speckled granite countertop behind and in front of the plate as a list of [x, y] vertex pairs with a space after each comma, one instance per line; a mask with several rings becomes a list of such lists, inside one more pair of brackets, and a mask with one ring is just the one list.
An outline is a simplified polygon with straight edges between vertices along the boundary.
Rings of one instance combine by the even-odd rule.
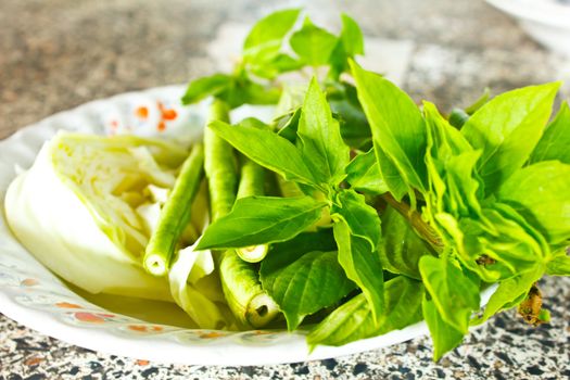
[[[231, 23], [304, 4], [318, 22], [347, 12], [402, 55], [393, 67], [416, 100], [443, 110], [567, 77], [570, 63], [530, 40], [482, 1], [53, 0], [0, 2], [0, 138], [54, 112], [129, 90], [185, 83], [216, 67], [212, 41]], [[221, 37], [220, 37], [221, 36]], [[218, 51], [219, 52], [219, 51]], [[541, 282], [553, 321], [533, 328], [514, 312], [470, 333], [439, 364], [428, 338], [328, 360], [263, 367], [159, 365], [41, 335], [0, 314], [0, 380], [186, 378], [570, 377], [570, 278]]]

